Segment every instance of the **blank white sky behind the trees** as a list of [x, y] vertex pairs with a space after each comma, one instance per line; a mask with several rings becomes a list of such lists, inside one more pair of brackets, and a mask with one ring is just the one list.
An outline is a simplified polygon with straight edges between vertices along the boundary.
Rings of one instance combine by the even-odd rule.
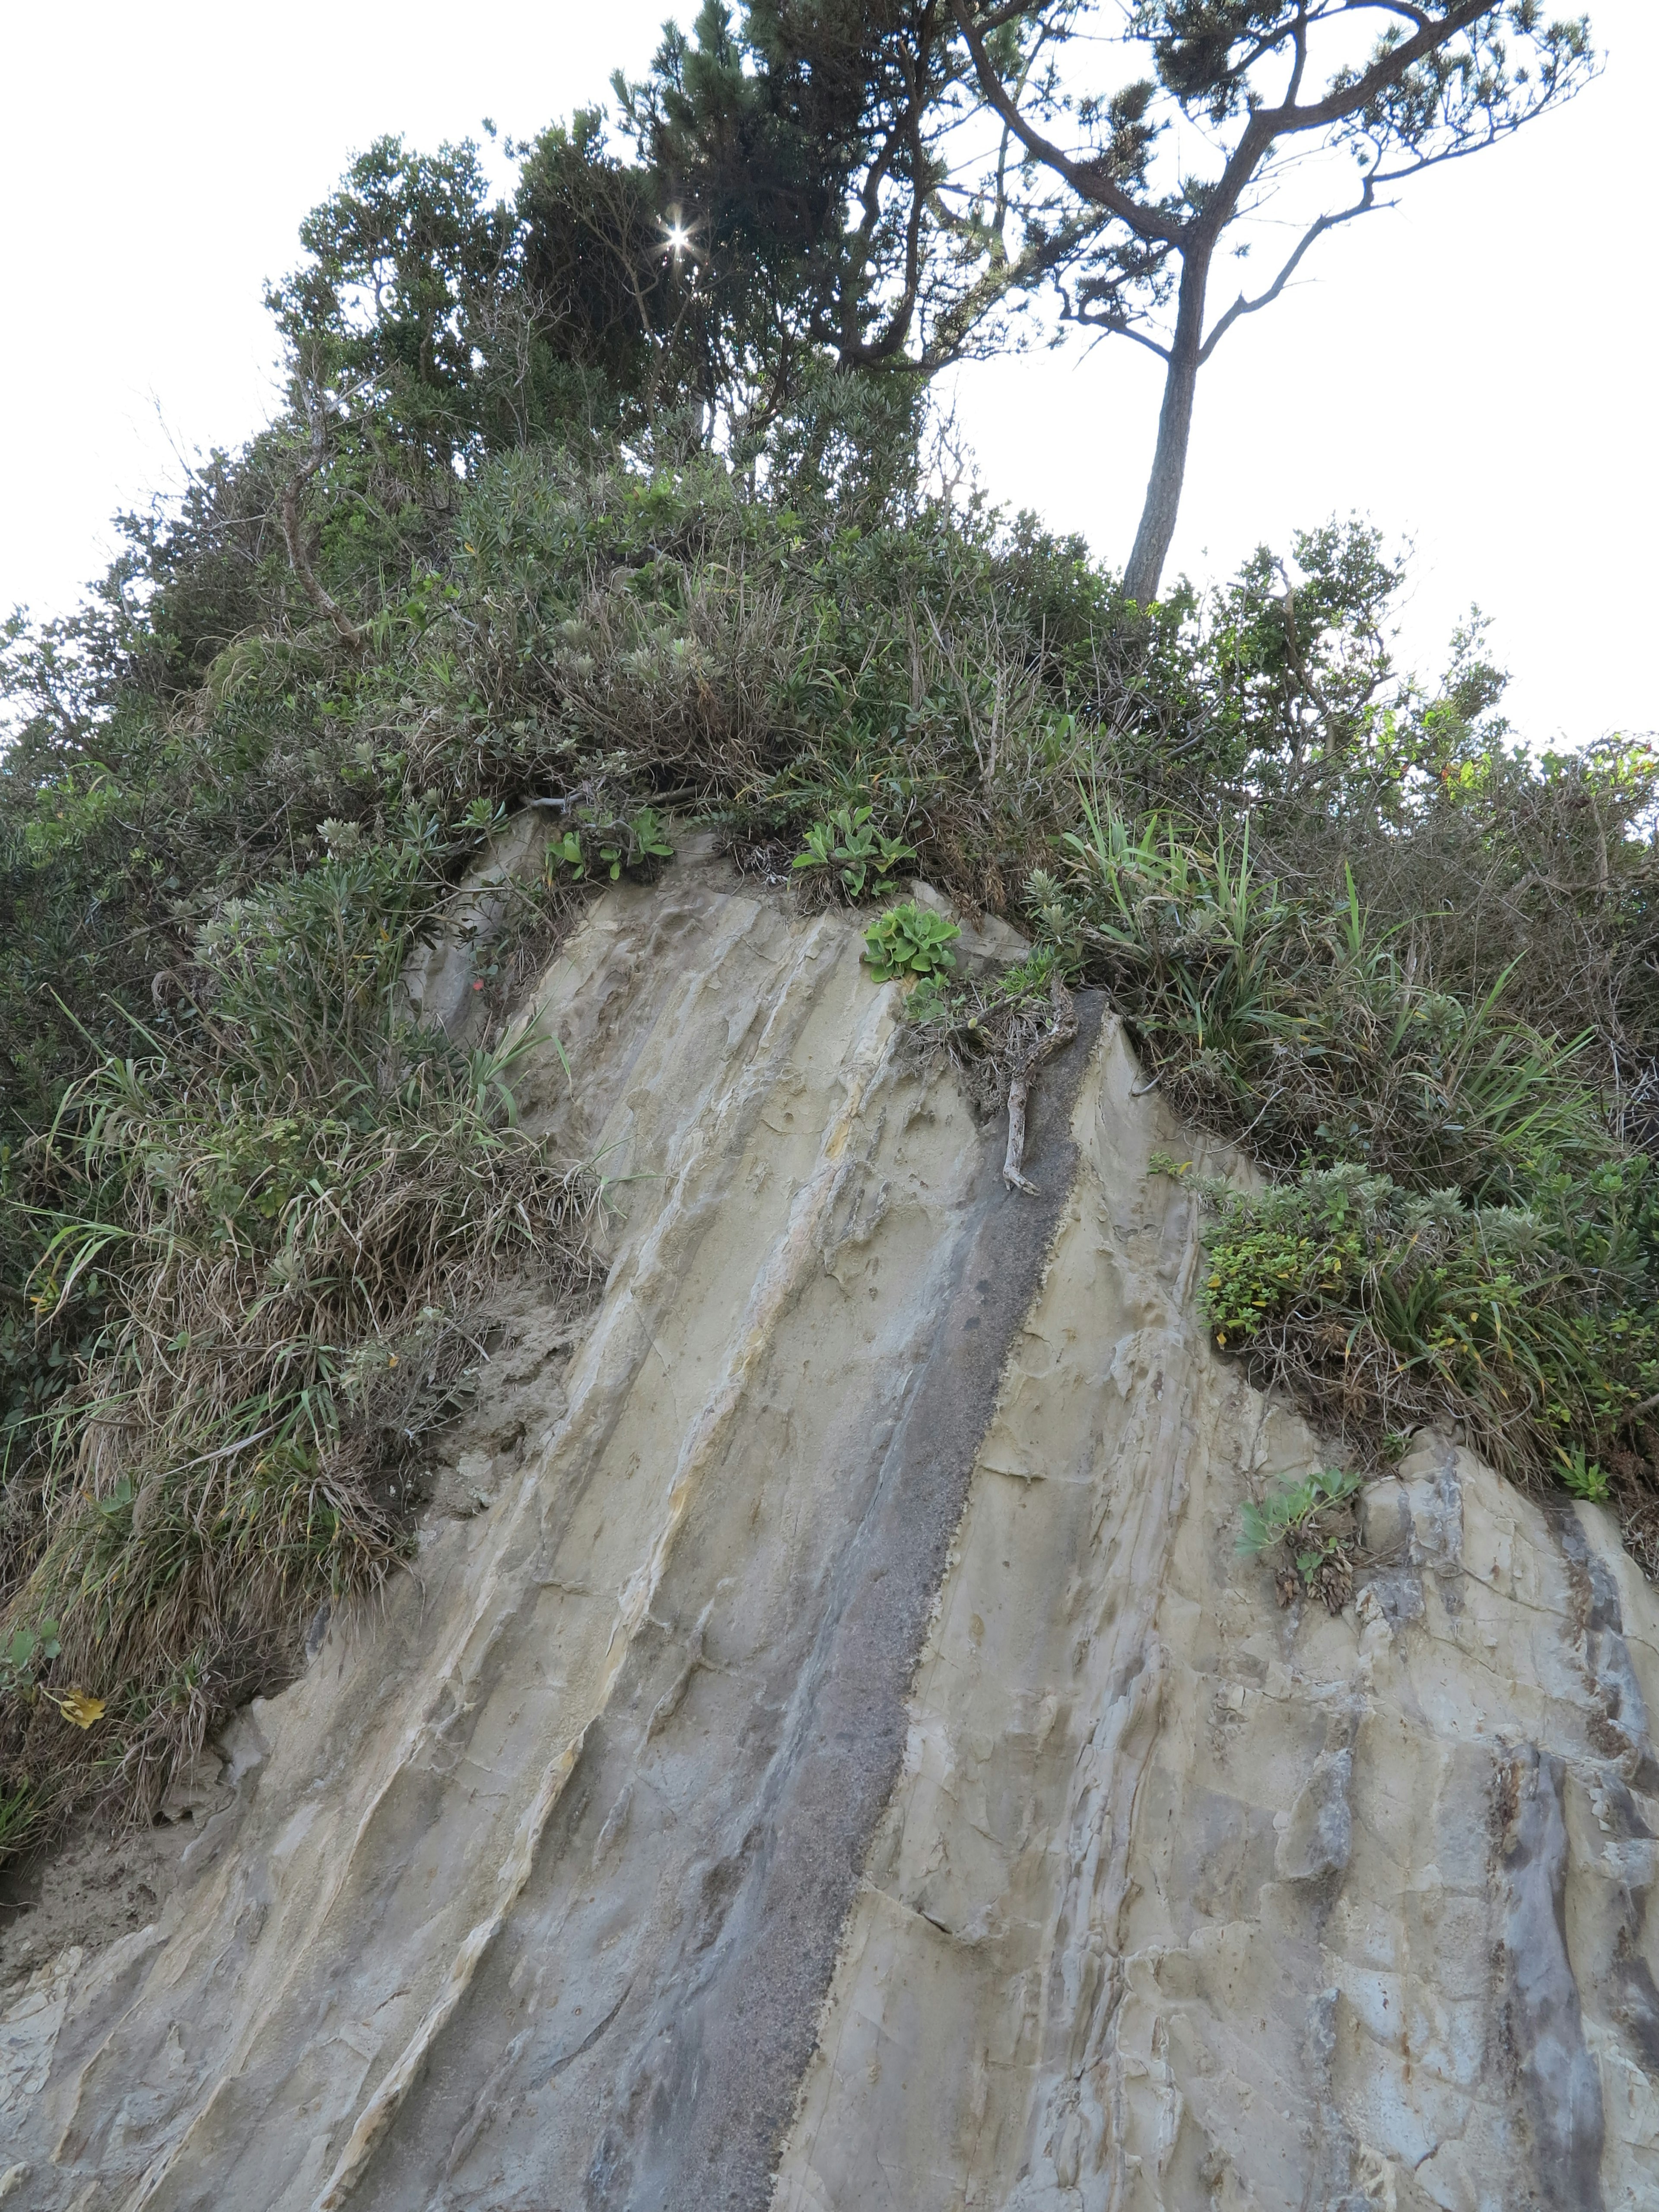
[[[1564, 0], [1566, 7], [1579, 0]], [[1241, 323], [1199, 385], [1170, 573], [1358, 509], [1416, 540], [1407, 655], [1438, 666], [1471, 599], [1535, 741], [1659, 726], [1655, 248], [1644, 148], [1652, 0], [1590, 0], [1606, 77], [1511, 146], [1407, 186]], [[0, 82], [9, 330], [0, 611], [66, 608], [108, 515], [270, 407], [261, 283], [383, 131], [420, 146], [491, 115], [529, 137], [641, 69], [668, 0], [82, 0], [11, 15]], [[679, 15], [695, 13], [681, 0]], [[1159, 365], [1108, 343], [960, 374], [998, 500], [1121, 564]]]

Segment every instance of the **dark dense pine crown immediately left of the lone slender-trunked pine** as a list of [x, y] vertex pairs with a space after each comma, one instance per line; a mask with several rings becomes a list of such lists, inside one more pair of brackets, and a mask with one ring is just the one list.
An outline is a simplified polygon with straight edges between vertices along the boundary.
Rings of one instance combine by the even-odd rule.
[[969, 106], [949, 0], [703, 0], [650, 73], [615, 80], [622, 126], [661, 190], [661, 239], [697, 288], [710, 407], [739, 427], [814, 374], [920, 385], [1006, 341], [1006, 310], [1073, 243], [1009, 250], [1006, 190], [964, 190]]

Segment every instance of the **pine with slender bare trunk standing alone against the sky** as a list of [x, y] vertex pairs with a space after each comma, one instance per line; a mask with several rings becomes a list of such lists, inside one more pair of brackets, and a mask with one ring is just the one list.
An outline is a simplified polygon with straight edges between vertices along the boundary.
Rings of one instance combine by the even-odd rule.
[[[1166, 365], [1157, 451], [1126, 597], [1157, 597], [1186, 476], [1199, 369], [1267, 307], [1340, 223], [1391, 206], [1429, 168], [1511, 137], [1597, 71], [1588, 20], [1540, 0], [951, 0], [980, 95], [1024, 155], [1035, 252], [1064, 263], [1062, 314]], [[1119, 18], [1113, 27], [1106, 18]], [[1376, 35], [1371, 35], [1376, 33]], [[1369, 51], [1360, 44], [1371, 40]], [[1075, 91], [1084, 51], [1117, 49], [1124, 82]], [[1148, 69], [1150, 64], [1150, 69]], [[1212, 159], [1168, 159], [1197, 133]], [[1217, 257], [1310, 153], [1349, 155], [1358, 190], [1310, 208], [1272, 279], [1208, 316]], [[1082, 217], [1093, 212], [1091, 228]], [[1055, 226], [1071, 239], [1053, 252]]]

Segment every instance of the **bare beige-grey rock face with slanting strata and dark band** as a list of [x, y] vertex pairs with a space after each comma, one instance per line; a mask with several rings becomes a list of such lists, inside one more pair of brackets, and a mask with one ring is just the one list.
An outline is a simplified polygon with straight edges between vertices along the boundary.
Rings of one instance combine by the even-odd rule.
[[542, 978], [606, 1294], [522, 1316], [159, 1920], [0, 1989], [0, 2201], [1659, 2203], [1613, 1524], [1422, 1436], [1279, 1613], [1239, 1504], [1318, 1444], [1192, 1310], [1194, 1141], [1093, 1002], [1006, 1192], [858, 951], [706, 863]]

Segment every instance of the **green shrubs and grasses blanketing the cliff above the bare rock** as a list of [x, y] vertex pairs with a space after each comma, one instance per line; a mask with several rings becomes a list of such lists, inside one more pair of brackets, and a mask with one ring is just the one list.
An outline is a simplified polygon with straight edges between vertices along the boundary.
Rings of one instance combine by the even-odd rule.
[[[1659, 1562], [1659, 761], [1520, 745], [1478, 619], [1396, 668], [1360, 522], [1130, 604], [949, 487], [916, 363], [765, 321], [787, 239], [641, 323], [571, 241], [655, 175], [580, 119], [495, 210], [376, 148], [274, 294], [288, 414], [4, 630], [0, 1854], [153, 1809], [398, 1557], [504, 1276], [591, 1283], [593, 1177], [396, 991], [526, 801], [549, 909], [675, 814], [807, 898], [1013, 918], [973, 1020], [1035, 1051], [1110, 991], [1267, 1172], [1214, 1194], [1228, 1356], [1360, 1453], [1453, 1418], [1604, 1482]], [[526, 268], [557, 314], [507, 312]]]

